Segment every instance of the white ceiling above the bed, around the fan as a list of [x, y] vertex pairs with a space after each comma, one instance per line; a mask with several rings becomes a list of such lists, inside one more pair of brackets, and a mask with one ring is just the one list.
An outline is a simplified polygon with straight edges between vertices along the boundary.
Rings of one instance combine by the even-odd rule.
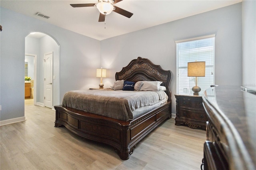
[[[106, 16], [106, 25], [98, 22], [96, 7], [70, 6], [98, 3], [98, 0], [1, 0], [0, 6], [84, 36], [104, 40], [238, 2], [242, 0], [123, 0], [115, 6], [132, 12], [133, 16], [126, 18], [112, 12]], [[50, 18], [36, 16], [38, 12]]]

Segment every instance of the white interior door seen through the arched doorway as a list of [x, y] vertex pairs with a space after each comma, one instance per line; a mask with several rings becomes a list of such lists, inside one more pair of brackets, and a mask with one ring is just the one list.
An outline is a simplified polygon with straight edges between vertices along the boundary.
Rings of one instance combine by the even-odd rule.
[[44, 105], [52, 108], [52, 58], [53, 52], [44, 54], [45, 78], [44, 78]]

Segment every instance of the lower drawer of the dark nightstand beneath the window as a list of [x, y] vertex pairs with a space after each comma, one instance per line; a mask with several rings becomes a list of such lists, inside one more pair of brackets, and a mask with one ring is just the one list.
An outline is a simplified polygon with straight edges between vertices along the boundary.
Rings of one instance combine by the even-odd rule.
[[197, 111], [188, 111], [188, 110], [180, 109], [180, 117], [191, 119], [191, 120], [203, 121], [203, 122], [207, 121], [206, 114], [200, 111], [197, 112]]

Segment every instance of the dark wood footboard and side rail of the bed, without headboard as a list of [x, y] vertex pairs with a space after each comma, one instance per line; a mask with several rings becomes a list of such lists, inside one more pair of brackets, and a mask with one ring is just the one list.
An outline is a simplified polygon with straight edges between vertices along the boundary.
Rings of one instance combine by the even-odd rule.
[[64, 125], [79, 136], [113, 146], [121, 159], [127, 160], [136, 144], [166, 119], [171, 118], [167, 102], [132, 121], [120, 121], [77, 109], [54, 106], [55, 127]]

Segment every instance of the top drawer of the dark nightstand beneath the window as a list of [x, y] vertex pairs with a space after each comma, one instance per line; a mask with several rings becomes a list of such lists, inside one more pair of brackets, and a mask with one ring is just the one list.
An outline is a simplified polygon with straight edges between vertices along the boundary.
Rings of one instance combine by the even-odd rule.
[[190, 107], [204, 110], [202, 98], [198, 98], [195, 100], [195, 98], [191, 97], [182, 97], [180, 98], [180, 107]]

